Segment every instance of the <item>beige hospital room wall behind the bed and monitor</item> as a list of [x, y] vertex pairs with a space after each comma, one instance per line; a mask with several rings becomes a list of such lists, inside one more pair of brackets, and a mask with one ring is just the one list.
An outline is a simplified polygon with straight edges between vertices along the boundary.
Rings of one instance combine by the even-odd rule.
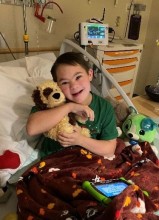
[[[145, 43], [152, 1], [133, 1], [134, 3], [146, 4], [146, 11], [141, 12], [142, 23], [138, 41], [129, 40], [130, 42]], [[126, 39], [125, 29], [129, 12], [126, 8], [130, 6], [132, 0], [118, 0], [116, 6], [114, 0], [57, 0], [56, 2], [62, 8], [63, 14], [56, 5], [53, 6], [53, 9], [44, 10], [44, 16], [50, 15], [57, 19], [50, 34], [46, 32], [47, 22], [43, 23], [38, 20], [34, 16], [34, 8], [27, 7], [27, 32], [30, 51], [36, 50], [37, 53], [40, 50], [58, 51], [64, 38], [73, 38], [74, 33], [78, 31], [80, 22], [92, 17], [101, 18], [104, 8], [106, 12], [103, 22], [114, 28], [116, 36]], [[116, 25], [117, 17], [120, 17], [118, 26]], [[0, 4], [0, 31], [5, 35], [5, 39], [13, 51], [20, 52], [24, 50], [23, 9], [21, 6]], [[3, 50], [4, 48], [0, 46], [0, 52]], [[18, 53], [15, 56], [19, 58], [24, 56], [24, 53]], [[4, 61], [4, 59], [8, 60], [12, 57], [3, 54], [0, 61]]]

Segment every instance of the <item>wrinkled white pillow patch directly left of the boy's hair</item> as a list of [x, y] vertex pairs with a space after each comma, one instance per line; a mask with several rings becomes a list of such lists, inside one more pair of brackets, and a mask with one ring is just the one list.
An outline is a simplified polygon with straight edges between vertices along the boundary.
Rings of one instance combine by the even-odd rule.
[[37, 56], [26, 57], [25, 59], [26, 59], [26, 67], [29, 76], [52, 79], [50, 71], [53, 63], [56, 60], [55, 56], [53, 57], [52, 60], [44, 59]]

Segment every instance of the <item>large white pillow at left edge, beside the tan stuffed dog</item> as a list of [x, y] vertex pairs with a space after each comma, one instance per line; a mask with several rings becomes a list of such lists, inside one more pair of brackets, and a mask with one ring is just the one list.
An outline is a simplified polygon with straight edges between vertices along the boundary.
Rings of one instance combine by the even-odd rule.
[[26, 81], [28, 73], [23, 67], [0, 66], [0, 135], [14, 141], [23, 136], [33, 101], [34, 86]]

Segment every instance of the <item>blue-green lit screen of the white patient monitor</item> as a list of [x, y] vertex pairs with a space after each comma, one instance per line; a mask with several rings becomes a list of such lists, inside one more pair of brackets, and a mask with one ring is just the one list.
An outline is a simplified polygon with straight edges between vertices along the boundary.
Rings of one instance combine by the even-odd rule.
[[89, 39], [104, 39], [105, 38], [105, 27], [88, 25], [88, 38]]

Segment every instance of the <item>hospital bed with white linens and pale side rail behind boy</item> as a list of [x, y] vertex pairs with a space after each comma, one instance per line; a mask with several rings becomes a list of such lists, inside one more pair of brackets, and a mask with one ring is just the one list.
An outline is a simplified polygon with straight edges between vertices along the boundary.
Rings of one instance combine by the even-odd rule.
[[[111, 97], [109, 88], [113, 84], [126, 105], [135, 108], [119, 84], [91, 54], [73, 41], [65, 39], [61, 45], [60, 54], [68, 51], [83, 53], [92, 62], [92, 67], [100, 72], [99, 75], [102, 76], [100, 89], [96, 88], [95, 79], [92, 83], [92, 90], [95, 93], [103, 97]], [[0, 204], [0, 219], [3, 219], [7, 213], [15, 212], [17, 198], [14, 184], [22, 173], [38, 159], [40, 137], [28, 137], [25, 125], [33, 106], [32, 91], [43, 80], [52, 79], [50, 69], [55, 60], [56, 56], [50, 52], [0, 63], [0, 155], [3, 155], [5, 150], [9, 150], [20, 157], [20, 163], [16, 168], [6, 167], [0, 170], [1, 186], [9, 182], [13, 190], [10, 198]]]

